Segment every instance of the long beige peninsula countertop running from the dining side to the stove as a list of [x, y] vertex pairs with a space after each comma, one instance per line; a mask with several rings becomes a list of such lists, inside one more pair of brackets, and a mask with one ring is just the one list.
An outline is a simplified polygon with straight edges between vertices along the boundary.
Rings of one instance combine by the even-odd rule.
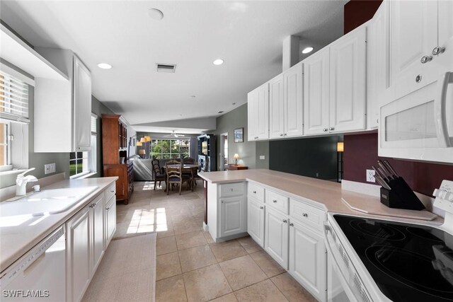
[[[199, 173], [199, 175], [208, 182], [218, 184], [241, 181], [256, 182], [269, 190], [277, 192], [280, 191], [287, 194], [289, 197], [309, 202], [314, 207], [319, 207], [320, 209], [339, 214], [396, 220], [395, 217], [391, 217], [390, 215], [393, 214], [395, 210], [405, 211], [409, 216], [411, 212], [414, 212], [411, 210], [382, 207], [379, 197], [342, 190], [341, 184], [338, 182], [307, 178], [305, 176], [283, 173], [274, 170], [229, 170]], [[376, 211], [382, 212], [382, 214], [372, 215], [365, 214], [361, 211], [355, 211], [354, 209], [348, 207], [348, 205], [341, 200], [342, 198], [354, 204], [363, 204], [365, 208], [369, 207], [369, 209], [375, 209]], [[418, 219], [398, 218], [397, 220], [412, 223], [422, 222]], [[427, 223], [427, 221], [423, 221], [422, 223]], [[442, 217], [437, 217], [436, 219], [429, 221], [429, 223], [432, 223], [433, 225], [440, 225], [443, 223], [443, 219]]]

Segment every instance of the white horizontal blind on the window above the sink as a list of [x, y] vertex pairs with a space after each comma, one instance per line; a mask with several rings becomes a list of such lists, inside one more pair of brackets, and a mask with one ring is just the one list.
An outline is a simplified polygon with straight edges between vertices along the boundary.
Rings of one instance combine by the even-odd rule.
[[29, 123], [28, 84], [0, 71], [0, 119]]

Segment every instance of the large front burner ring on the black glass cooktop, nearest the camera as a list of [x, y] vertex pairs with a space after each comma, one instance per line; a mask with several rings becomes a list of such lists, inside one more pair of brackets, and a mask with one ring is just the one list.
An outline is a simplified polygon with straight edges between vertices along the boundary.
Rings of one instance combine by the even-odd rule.
[[424, 255], [385, 245], [365, 250], [367, 259], [387, 276], [406, 286], [438, 298], [453, 299], [453, 286], [432, 269], [435, 260]]

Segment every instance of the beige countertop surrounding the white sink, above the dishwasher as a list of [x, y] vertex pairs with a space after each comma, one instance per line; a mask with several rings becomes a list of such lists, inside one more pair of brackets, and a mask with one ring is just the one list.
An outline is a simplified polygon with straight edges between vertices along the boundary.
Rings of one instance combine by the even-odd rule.
[[59, 214], [32, 216], [26, 221], [0, 221], [0, 272], [18, 260], [25, 252], [55, 231], [88, 202], [105, 190], [117, 177], [62, 180], [43, 187], [42, 190], [67, 187], [97, 187], [96, 190], [79, 200], [73, 207]]

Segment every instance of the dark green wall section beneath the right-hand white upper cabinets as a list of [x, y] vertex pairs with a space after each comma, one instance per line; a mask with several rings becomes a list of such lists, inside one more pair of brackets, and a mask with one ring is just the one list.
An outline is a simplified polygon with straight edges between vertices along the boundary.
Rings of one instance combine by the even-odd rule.
[[337, 141], [343, 141], [343, 138], [316, 137], [270, 141], [269, 168], [311, 178], [336, 180]]

